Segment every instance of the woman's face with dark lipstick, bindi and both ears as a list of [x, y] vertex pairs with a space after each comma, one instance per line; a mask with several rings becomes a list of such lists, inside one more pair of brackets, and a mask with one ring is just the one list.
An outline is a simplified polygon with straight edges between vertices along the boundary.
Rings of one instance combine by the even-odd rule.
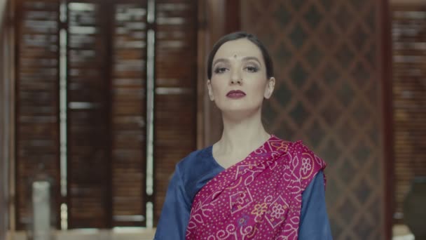
[[248, 39], [227, 41], [214, 55], [207, 88], [222, 112], [260, 112], [263, 98], [270, 98], [274, 86], [275, 79], [266, 77], [261, 50]]

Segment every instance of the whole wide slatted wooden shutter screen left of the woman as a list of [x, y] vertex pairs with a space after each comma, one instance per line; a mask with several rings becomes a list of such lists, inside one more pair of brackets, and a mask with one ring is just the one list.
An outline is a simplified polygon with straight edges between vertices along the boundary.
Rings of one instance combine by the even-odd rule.
[[[196, 147], [197, 6], [153, 1], [156, 17], [149, 22], [148, 1], [65, 3], [65, 15], [58, 0], [17, 3], [18, 229], [29, 223], [28, 184], [37, 172], [55, 184], [58, 217], [60, 204], [67, 204], [69, 228], [144, 226], [146, 203], [153, 201], [157, 219], [174, 164]], [[146, 138], [149, 31], [155, 36], [151, 142]], [[60, 98], [66, 99], [64, 146]], [[150, 144], [153, 195], [146, 193]], [[67, 152], [63, 197], [61, 147]]]

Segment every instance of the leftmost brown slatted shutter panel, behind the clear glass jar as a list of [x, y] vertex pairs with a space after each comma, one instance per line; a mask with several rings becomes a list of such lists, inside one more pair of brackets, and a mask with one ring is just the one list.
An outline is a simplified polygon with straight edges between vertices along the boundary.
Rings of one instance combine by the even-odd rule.
[[[46, 173], [59, 186], [57, 1], [19, 1], [16, 84], [16, 213], [25, 229], [30, 182]], [[55, 206], [53, 206], [55, 208]]]

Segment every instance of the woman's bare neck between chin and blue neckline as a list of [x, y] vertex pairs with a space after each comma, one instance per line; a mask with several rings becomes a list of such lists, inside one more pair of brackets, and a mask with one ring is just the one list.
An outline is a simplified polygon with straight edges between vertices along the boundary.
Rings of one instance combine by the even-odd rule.
[[236, 117], [223, 113], [224, 132], [217, 142], [220, 152], [243, 154], [252, 152], [270, 138], [261, 122], [261, 109], [250, 116], [241, 114]]

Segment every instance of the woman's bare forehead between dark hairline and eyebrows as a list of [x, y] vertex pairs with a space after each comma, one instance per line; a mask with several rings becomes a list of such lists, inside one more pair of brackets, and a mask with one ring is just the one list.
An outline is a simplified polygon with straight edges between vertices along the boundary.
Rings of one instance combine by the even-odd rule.
[[217, 50], [214, 59], [217, 58], [244, 58], [244, 57], [256, 57], [259, 61], [263, 62], [262, 52], [256, 44], [248, 39], [237, 39], [227, 41]]

